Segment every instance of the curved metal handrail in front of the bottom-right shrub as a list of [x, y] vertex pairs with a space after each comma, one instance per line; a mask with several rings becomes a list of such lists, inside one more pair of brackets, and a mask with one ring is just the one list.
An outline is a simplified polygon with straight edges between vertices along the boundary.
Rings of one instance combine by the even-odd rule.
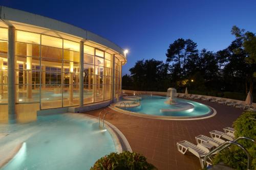
[[224, 143], [222, 143], [219, 147], [217, 147], [216, 149], [210, 151], [209, 153], [207, 153], [204, 156], [204, 162], [203, 162], [203, 168], [206, 168], [206, 160], [207, 158], [212, 154], [215, 153], [216, 151], [222, 149], [222, 147], [225, 147], [226, 145], [230, 145], [230, 144], [236, 144], [238, 145], [247, 155], [247, 170], [250, 170], [250, 154], [248, 153], [248, 151], [239, 143], [235, 142], [235, 141], [225, 141]]

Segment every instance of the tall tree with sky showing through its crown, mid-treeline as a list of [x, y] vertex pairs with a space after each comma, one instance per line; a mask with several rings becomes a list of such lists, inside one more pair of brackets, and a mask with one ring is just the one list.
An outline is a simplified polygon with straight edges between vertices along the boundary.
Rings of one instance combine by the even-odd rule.
[[165, 55], [167, 62], [178, 62], [176, 66], [178, 66], [178, 76], [181, 77], [186, 72], [187, 57], [194, 56], [197, 53], [197, 43], [191, 39], [184, 40], [183, 38], [179, 38], [169, 45]]

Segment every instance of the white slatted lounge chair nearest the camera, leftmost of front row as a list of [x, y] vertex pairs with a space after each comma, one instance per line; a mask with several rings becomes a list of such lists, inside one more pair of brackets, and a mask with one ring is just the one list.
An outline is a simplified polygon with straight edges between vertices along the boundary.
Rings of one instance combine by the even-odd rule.
[[[203, 167], [203, 160], [204, 160], [203, 158], [207, 153], [209, 153], [209, 150], [207, 148], [205, 148], [202, 144], [195, 145], [186, 140], [177, 142], [177, 148], [178, 148], [178, 151], [180, 153], [182, 153], [183, 155], [187, 151], [189, 151], [189, 152], [193, 153], [195, 156], [197, 156], [200, 160], [200, 164], [202, 167]], [[207, 161], [207, 166], [209, 164], [211, 164], [211, 163]]]

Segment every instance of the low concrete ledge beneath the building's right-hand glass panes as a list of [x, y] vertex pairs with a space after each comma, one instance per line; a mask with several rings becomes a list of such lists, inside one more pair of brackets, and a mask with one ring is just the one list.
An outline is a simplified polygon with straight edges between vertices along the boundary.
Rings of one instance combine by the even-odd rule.
[[90, 111], [90, 110], [100, 109], [102, 107], [109, 106], [110, 104], [111, 104], [111, 100], [100, 102], [100, 103], [84, 105], [82, 107], [74, 106], [74, 107], [69, 107], [67, 112], [71, 112], [71, 113], [86, 112], [86, 111]]

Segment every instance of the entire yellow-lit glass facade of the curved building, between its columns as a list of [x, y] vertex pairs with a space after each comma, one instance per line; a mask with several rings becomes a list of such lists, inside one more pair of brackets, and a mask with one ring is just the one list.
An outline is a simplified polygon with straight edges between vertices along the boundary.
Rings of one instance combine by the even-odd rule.
[[[84, 45], [83, 104], [111, 100], [120, 92], [120, 61]], [[79, 105], [80, 44], [71, 40], [16, 30], [16, 104], [38, 104], [39, 109]], [[0, 105], [8, 104], [8, 29], [0, 28]]]

